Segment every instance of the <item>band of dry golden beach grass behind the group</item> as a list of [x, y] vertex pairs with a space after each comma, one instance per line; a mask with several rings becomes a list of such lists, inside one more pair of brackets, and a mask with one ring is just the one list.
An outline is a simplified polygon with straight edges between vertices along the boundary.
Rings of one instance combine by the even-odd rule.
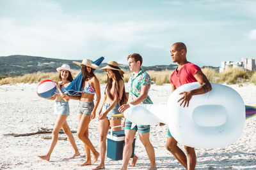
[[[164, 70], [164, 71], [147, 71], [150, 75], [152, 83], [156, 85], [163, 85], [165, 83], [170, 83], [170, 75], [173, 71]], [[202, 72], [208, 78], [211, 83], [227, 83], [227, 84], [241, 84], [246, 82], [251, 82], [256, 85], [256, 73], [245, 71], [241, 68], [232, 68], [227, 69], [221, 73], [217, 72], [214, 69], [205, 67], [202, 69]], [[75, 78], [79, 71], [74, 71], [72, 76]], [[108, 77], [106, 73], [95, 73], [100, 83], [107, 83]], [[131, 72], [125, 72], [124, 82], [127, 83], [130, 78]], [[49, 79], [52, 81], [57, 81], [59, 76], [58, 72], [52, 73], [32, 73], [25, 74], [24, 76], [0, 76], [0, 85], [4, 84], [15, 84], [15, 83], [38, 83], [42, 80]]]

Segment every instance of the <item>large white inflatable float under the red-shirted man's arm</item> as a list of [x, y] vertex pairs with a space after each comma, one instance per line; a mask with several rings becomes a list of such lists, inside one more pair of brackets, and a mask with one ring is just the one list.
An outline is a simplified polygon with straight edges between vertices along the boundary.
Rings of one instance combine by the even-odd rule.
[[[200, 86], [188, 83], [177, 88], [167, 105], [140, 104], [125, 110], [124, 116], [140, 125], [169, 125], [179, 143], [195, 148], [218, 148], [234, 143], [242, 134], [245, 109], [242, 97], [232, 88], [211, 83], [212, 90], [193, 96], [189, 107], [177, 101], [181, 92]], [[167, 132], [166, 132], [167, 135]]]

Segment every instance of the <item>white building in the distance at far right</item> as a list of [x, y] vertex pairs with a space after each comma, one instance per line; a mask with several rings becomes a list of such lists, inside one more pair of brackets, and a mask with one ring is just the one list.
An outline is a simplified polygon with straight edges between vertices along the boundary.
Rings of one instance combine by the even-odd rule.
[[241, 67], [246, 69], [247, 71], [255, 71], [255, 59], [241, 59], [241, 62], [233, 62], [233, 61], [221, 61], [220, 72], [225, 69], [230, 69], [234, 67]]

